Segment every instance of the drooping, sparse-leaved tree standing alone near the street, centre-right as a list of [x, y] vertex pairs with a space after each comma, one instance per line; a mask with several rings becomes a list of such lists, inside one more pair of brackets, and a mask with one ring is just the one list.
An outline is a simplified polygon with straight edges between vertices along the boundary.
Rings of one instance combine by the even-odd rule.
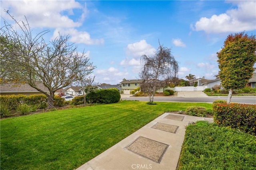
[[140, 78], [145, 81], [140, 84], [142, 91], [148, 93], [149, 102], [154, 101], [156, 90], [166, 85], [166, 80], [177, 77], [178, 62], [171, 54], [171, 49], [159, 43], [158, 50], [152, 56], [141, 56], [142, 70]]

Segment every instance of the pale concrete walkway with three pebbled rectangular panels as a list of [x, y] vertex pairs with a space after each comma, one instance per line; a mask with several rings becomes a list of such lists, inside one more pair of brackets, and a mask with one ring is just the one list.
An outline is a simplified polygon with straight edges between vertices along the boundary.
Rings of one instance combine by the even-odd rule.
[[176, 170], [186, 126], [210, 118], [164, 113], [77, 170]]

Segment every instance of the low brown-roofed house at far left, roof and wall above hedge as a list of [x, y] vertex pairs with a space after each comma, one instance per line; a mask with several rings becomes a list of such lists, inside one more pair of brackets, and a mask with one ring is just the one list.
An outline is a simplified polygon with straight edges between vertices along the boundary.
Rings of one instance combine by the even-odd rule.
[[[37, 84], [38, 88], [43, 90], [44, 92], [49, 92], [48, 88], [44, 86], [43, 83]], [[35, 88], [32, 88], [28, 84], [15, 84], [13, 82], [4, 83], [0, 86], [0, 95], [18, 95], [18, 94], [24, 94], [26, 96], [30, 96], [32, 94], [43, 94], [36, 90]]]

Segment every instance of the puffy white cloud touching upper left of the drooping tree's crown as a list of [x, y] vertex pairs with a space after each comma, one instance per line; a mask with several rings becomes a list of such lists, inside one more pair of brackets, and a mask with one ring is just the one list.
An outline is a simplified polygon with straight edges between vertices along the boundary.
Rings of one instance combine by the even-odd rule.
[[126, 47], [126, 53], [134, 57], [140, 57], [142, 55], [152, 55], [156, 49], [148, 44], [146, 40], [141, 40], [139, 42], [128, 44]]

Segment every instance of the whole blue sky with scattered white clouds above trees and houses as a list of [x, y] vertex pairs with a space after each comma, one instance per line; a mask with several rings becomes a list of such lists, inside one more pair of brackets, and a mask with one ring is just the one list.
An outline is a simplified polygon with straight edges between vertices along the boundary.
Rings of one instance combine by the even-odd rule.
[[[28, 19], [33, 32], [49, 29], [50, 41], [58, 31], [86, 51], [97, 67], [99, 83], [118, 84], [139, 78], [140, 56], [152, 55], [158, 40], [172, 49], [179, 78], [194, 74], [214, 79], [216, 52], [230, 33], [256, 34], [256, 1], [74, 1], [1, 0], [4, 13]], [[21, 8], [22, 7], [22, 8]], [[2, 20], [2, 19], [1, 19]], [[2, 25], [2, 21], [1, 21]]]

